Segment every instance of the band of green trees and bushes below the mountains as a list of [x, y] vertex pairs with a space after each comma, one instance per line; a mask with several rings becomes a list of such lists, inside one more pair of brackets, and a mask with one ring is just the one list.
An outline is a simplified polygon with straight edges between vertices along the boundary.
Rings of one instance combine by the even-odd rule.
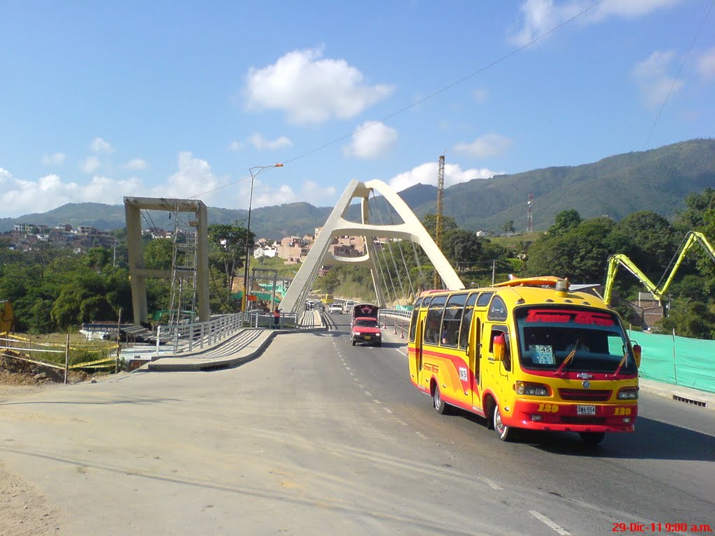
[[[434, 234], [435, 216], [425, 228]], [[513, 227], [512, 226], [504, 226]], [[477, 237], [460, 229], [454, 219], [443, 219], [442, 249], [465, 285], [480, 287], [493, 280], [557, 275], [573, 283], [603, 284], [611, 254], [626, 254], [653, 282], [669, 273], [669, 263], [689, 231], [703, 232], [715, 244], [715, 189], [691, 194], [686, 209], [669, 222], [653, 212], [634, 212], [620, 222], [606, 217], [582, 219], [574, 209], [556, 214], [546, 232], [508, 233], [506, 237]], [[238, 224], [209, 226], [209, 293], [214, 313], [236, 312], [235, 279], [242, 277], [245, 228]], [[94, 247], [74, 254], [40, 242], [31, 252], [17, 252], [0, 237], [0, 300], [10, 300], [16, 331], [30, 334], [76, 332], [83, 322], [123, 322], [131, 318], [131, 290], [126, 232], [116, 232], [116, 251]], [[169, 269], [172, 244], [168, 239], [144, 237], [147, 268]], [[256, 262], [255, 260], [252, 262]], [[277, 269], [278, 279], [291, 278], [298, 265], [264, 258], [260, 267]], [[252, 264], [255, 266], [255, 264]], [[378, 254], [378, 267], [388, 281], [388, 299], [409, 304], [413, 294], [433, 287], [434, 271], [420, 248], [410, 242], [389, 242]], [[332, 267], [315, 282], [315, 290], [336, 297], [373, 300], [368, 269]], [[616, 307], [626, 319], [626, 300], [644, 292], [625, 270], [616, 281], [621, 302]], [[149, 312], [168, 309], [169, 281], [149, 279]], [[715, 338], [715, 263], [694, 249], [681, 266], [667, 297], [669, 316], [661, 329], [686, 337]]]

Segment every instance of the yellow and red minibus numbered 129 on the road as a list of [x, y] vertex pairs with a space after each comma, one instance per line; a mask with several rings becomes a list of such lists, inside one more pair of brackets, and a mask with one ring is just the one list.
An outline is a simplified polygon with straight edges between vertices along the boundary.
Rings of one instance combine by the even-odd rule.
[[633, 432], [641, 348], [601, 298], [568, 287], [549, 276], [423, 292], [410, 380], [438, 412], [485, 417], [501, 440], [520, 428], [577, 432], [589, 445]]

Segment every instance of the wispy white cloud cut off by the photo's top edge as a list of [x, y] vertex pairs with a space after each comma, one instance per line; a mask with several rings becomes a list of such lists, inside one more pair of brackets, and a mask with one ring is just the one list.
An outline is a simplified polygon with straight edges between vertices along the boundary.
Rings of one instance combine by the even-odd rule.
[[[644, 16], [657, 9], [680, 4], [681, 1], [683, 0], [603, 0], [579, 20], [596, 22], [610, 16]], [[525, 45], [568, 21], [592, 4], [592, 0], [571, 0], [559, 4], [555, 4], [553, 0], [526, 0], [520, 8], [523, 15], [521, 28], [514, 32], [511, 40], [520, 46]]]

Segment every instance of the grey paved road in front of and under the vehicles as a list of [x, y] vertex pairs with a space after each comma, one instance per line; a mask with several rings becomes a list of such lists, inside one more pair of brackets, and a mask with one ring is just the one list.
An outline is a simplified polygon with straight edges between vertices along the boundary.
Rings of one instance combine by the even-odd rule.
[[596, 450], [568, 434], [504, 443], [478, 417], [438, 415], [390, 329], [381, 348], [352, 347], [347, 317], [333, 318], [337, 331], [281, 335], [236, 369], [2, 404], [0, 459], [64, 512], [61, 535], [715, 527], [712, 410], [644, 394], [636, 433]]

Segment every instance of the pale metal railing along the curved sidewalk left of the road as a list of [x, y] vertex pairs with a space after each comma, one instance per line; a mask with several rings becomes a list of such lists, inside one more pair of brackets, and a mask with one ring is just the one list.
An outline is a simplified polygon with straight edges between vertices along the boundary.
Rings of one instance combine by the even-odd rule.
[[175, 354], [201, 350], [230, 337], [243, 327], [245, 315], [240, 313], [225, 314], [195, 324], [176, 326], [159, 325], [157, 327], [157, 356], [167, 349]]

